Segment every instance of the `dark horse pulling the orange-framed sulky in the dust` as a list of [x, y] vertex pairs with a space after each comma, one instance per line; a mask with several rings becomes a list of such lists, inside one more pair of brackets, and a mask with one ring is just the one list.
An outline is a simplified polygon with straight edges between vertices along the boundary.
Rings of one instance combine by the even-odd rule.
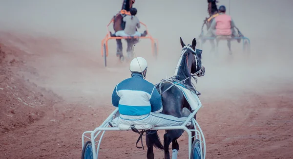
[[[114, 31], [117, 32], [119, 30], [124, 30], [125, 22], [123, 22], [124, 16], [126, 16], [126, 12], [129, 13], [129, 9], [132, 8], [135, 0], [124, 0], [121, 11], [113, 17], [113, 28]], [[127, 53], [132, 51], [132, 46], [137, 43], [137, 39], [126, 39], [127, 42]], [[116, 55], [119, 58], [123, 58], [123, 46], [121, 39], [116, 39], [117, 43], [117, 53]]]

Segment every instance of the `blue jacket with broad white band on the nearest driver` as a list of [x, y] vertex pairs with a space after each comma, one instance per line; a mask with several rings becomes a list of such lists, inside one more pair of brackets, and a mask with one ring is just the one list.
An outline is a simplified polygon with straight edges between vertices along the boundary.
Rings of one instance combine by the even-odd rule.
[[118, 83], [112, 94], [112, 104], [123, 115], [146, 115], [163, 110], [162, 98], [152, 83], [143, 79], [139, 73]]

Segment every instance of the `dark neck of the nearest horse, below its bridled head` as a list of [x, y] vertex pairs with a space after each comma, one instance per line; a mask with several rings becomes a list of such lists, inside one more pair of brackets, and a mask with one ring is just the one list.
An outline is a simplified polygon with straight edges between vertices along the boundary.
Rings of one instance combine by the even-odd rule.
[[191, 50], [188, 49], [186, 51], [186, 53], [184, 53], [182, 55], [181, 64], [180, 64], [180, 67], [178, 68], [178, 72], [177, 72], [177, 75], [175, 76], [175, 78], [177, 80], [181, 81], [181, 80], [185, 80], [186, 78], [189, 77], [187, 80], [185, 80], [184, 84], [188, 85], [189, 87], [191, 87], [193, 89], [193, 91], [195, 91], [195, 86], [191, 82], [191, 78], [193, 78], [196, 83], [197, 83], [197, 78], [195, 76], [191, 75], [191, 73], [188, 71], [188, 64], [187, 64], [187, 56], [190, 53], [192, 54]]

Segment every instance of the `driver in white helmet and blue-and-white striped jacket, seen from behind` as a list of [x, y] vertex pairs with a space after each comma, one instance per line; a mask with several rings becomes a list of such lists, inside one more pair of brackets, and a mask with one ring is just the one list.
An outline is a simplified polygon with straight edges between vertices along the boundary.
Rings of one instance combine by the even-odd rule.
[[[187, 117], [174, 117], [159, 114], [163, 111], [161, 95], [146, 78], [146, 60], [142, 57], [134, 58], [130, 63], [131, 78], [118, 83], [112, 94], [112, 104], [118, 107], [120, 116], [109, 122], [110, 126], [124, 125], [153, 125], [180, 126]], [[189, 121], [187, 126], [191, 125]]]

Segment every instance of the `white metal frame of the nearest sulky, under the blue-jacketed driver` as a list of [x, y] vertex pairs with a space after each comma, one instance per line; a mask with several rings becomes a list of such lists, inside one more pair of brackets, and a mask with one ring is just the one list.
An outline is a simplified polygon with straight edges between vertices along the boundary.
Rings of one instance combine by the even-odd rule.
[[[199, 103], [198, 107], [188, 116], [188, 119], [186, 120], [186, 122], [184, 122], [181, 126], [166, 126], [166, 127], [154, 127], [150, 130], [176, 130], [176, 129], [182, 129], [185, 130], [188, 134], [188, 154], [189, 154], [189, 159], [191, 159], [191, 139], [192, 137], [195, 137], [195, 139], [199, 139], [200, 141], [200, 150], [201, 150], [201, 159], [205, 159], [206, 158], [206, 140], [204, 137], [204, 134], [202, 132], [202, 129], [200, 128], [199, 124], [197, 123], [197, 121], [194, 119], [194, 115], [196, 114], [196, 112], [202, 107], [202, 104], [199, 100], [199, 98], [197, 98], [197, 101]], [[124, 131], [119, 129], [118, 127], [108, 127], [109, 121], [113, 120], [114, 114], [116, 114], [116, 112], [118, 111], [118, 109], [114, 110], [112, 114], [110, 114], [106, 120], [101, 124], [100, 127], [97, 127], [94, 131], [86, 131], [83, 133], [82, 136], [82, 149], [84, 148], [84, 137], [88, 138], [91, 140], [92, 143], [92, 152], [93, 152], [93, 158], [94, 159], [98, 159], [98, 154], [99, 154], [99, 149], [100, 149], [100, 145], [101, 145], [101, 141], [102, 138], [105, 134], [105, 131]], [[191, 120], [192, 124], [195, 125], [194, 129], [190, 130], [186, 127], [187, 122]], [[198, 129], [198, 130], [197, 130]], [[130, 128], [127, 129], [126, 131], [131, 130]], [[102, 133], [102, 135], [100, 136], [100, 139], [98, 141], [95, 141], [95, 139], [99, 136], [99, 134]], [[191, 136], [191, 132], [195, 132], [195, 136]], [[96, 134], [97, 133], [97, 134]], [[90, 134], [90, 137], [85, 136], [85, 134]], [[96, 145], [96, 142], [98, 142], [98, 145]], [[96, 149], [97, 146], [97, 149]], [[204, 146], [204, 148], [202, 148], [202, 146]], [[204, 152], [202, 151], [204, 150]]]

